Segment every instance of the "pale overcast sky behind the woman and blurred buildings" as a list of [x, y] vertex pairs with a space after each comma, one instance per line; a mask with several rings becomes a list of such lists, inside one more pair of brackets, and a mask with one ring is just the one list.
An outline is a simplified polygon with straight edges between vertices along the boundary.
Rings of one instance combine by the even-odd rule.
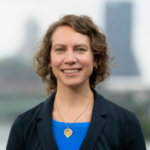
[[[16, 55], [25, 40], [25, 23], [31, 17], [39, 23], [39, 38], [62, 14], [89, 15], [105, 30], [104, 4], [106, 1], [0, 0], [0, 59]], [[132, 51], [145, 82], [150, 83], [150, 1], [131, 0], [131, 2], [134, 4]]]

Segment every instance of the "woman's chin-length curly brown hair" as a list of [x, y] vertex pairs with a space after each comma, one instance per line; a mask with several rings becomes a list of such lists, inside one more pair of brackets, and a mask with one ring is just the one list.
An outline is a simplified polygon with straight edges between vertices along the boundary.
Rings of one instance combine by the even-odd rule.
[[91, 41], [91, 49], [94, 55], [94, 61], [97, 64], [97, 69], [93, 69], [92, 75], [89, 78], [90, 87], [95, 86], [104, 81], [110, 75], [111, 61], [108, 55], [108, 45], [105, 35], [99, 31], [92, 19], [85, 15], [65, 15], [58, 21], [51, 24], [40, 41], [39, 50], [35, 53], [31, 60], [32, 70], [42, 78], [42, 82], [45, 84], [45, 91], [49, 96], [57, 91], [57, 79], [54, 76], [52, 70], [49, 69], [49, 63], [51, 61], [51, 46], [53, 32], [60, 26], [70, 26], [75, 31], [87, 35]]

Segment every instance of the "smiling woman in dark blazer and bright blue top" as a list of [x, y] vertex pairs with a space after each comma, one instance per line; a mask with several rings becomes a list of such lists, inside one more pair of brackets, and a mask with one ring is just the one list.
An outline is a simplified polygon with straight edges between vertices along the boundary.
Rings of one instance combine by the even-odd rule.
[[110, 62], [91, 18], [66, 15], [53, 23], [32, 60], [51, 96], [17, 117], [6, 149], [146, 150], [135, 114], [94, 90]]

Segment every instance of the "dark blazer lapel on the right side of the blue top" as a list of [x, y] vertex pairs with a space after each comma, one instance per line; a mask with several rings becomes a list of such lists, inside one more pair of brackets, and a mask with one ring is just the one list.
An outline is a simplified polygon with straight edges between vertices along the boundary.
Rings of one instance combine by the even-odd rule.
[[105, 100], [94, 89], [92, 89], [92, 91], [94, 93], [94, 107], [91, 123], [80, 146], [80, 150], [92, 150], [105, 125], [105, 120], [102, 118], [103, 116], [107, 115], [105, 109]]

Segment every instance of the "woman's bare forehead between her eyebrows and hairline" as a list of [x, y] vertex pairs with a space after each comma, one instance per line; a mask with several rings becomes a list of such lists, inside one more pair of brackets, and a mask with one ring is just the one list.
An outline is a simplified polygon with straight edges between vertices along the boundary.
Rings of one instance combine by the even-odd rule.
[[52, 46], [57, 44], [80, 44], [90, 46], [90, 39], [87, 35], [75, 31], [69, 26], [57, 27], [52, 35]]

